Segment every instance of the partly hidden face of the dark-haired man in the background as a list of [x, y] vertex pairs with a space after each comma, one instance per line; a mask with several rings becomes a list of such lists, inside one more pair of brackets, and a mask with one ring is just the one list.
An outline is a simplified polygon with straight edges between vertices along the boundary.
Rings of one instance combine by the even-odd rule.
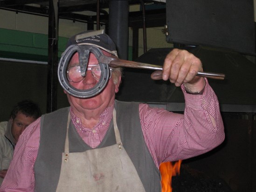
[[35, 120], [36, 120], [35, 118], [27, 117], [21, 112], [18, 112], [16, 117], [14, 119], [11, 119], [11, 122], [12, 122], [11, 132], [14, 137], [15, 144], [18, 142], [18, 139], [21, 133], [23, 132], [23, 130], [25, 130], [25, 128], [28, 127], [30, 123], [33, 123]]

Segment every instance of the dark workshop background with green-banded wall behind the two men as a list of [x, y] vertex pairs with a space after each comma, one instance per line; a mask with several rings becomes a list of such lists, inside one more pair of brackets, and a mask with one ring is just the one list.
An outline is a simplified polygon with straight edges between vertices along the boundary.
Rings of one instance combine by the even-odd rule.
[[[22, 99], [42, 113], [69, 106], [58, 64], [70, 36], [104, 30], [121, 60], [162, 66], [173, 48], [201, 59], [220, 102], [226, 139], [183, 160], [173, 192], [256, 191], [256, 0], [0, 0], [0, 118]], [[116, 98], [183, 113], [171, 82], [124, 68]]]

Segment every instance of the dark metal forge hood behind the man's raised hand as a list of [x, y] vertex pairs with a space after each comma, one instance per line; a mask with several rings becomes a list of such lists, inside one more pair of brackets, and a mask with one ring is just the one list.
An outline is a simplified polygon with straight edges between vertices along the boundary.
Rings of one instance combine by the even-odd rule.
[[[150, 49], [136, 61], [162, 65], [172, 48]], [[219, 98], [223, 112], [256, 112], [256, 65], [244, 55], [208, 47], [187, 47], [203, 63], [204, 71], [224, 73], [225, 80], [208, 79]], [[152, 70], [128, 69], [117, 95], [121, 101], [165, 105], [167, 110], [183, 111], [184, 96], [170, 82], [153, 81]]]

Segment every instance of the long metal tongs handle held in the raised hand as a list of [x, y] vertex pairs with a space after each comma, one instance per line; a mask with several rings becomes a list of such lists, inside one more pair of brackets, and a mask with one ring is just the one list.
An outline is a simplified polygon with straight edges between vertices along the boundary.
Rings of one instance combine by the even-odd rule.
[[[152, 69], [152, 70], [163, 70], [162, 66], [152, 65], [142, 62], [132, 62], [127, 60], [118, 59], [116, 57], [109, 57], [106, 55], [101, 55], [99, 62], [108, 64], [111, 67], [129, 67], [129, 68], [138, 68], [138, 69]], [[212, 73], [212, 72], [201, 72], [197, 73], [197, 76], [207, 77], [211, 79], [224, 80], [225, 74], [222, 73]]]

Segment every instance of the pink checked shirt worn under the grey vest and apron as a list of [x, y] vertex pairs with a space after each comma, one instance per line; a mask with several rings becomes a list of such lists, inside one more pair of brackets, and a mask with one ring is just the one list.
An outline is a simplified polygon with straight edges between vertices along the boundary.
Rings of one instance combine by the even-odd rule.
[[[224, 127], [214, 91], [206, 84], [203, 95], [187, 94], [181, 87], [186, 108], [184, 115], [139, 105], [145, 143], [157, 167], [161, 162], [194, 157], [210, 151], [224, 140]], [[71, 109], [71, 120], [83, 141], [92, 148], [103, 140], [112, 118], [113, 105], [100, 116], [93, 129], [82, 126]], [[22, 133], [13, 161], [0, 191], [33, 192], [34, 163], [40, 140], [40, 118]]]

